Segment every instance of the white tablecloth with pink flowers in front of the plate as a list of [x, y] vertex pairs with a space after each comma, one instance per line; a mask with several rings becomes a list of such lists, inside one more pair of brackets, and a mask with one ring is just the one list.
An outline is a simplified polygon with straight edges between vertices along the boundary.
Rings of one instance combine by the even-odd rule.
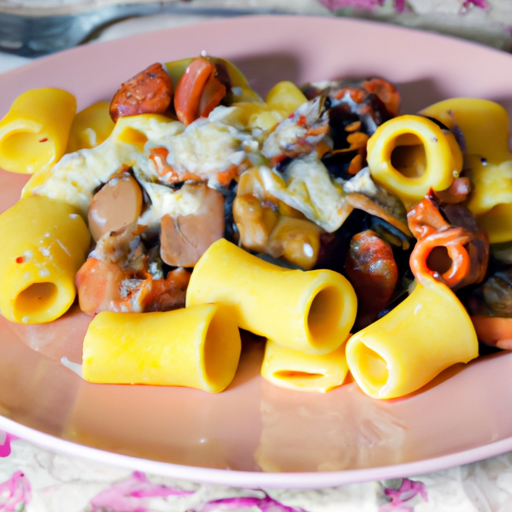
[[320, 490], [181, 482], [49, 452], [0, 432], [2, 512], [509, 512], [512, 453], [415, 478]]

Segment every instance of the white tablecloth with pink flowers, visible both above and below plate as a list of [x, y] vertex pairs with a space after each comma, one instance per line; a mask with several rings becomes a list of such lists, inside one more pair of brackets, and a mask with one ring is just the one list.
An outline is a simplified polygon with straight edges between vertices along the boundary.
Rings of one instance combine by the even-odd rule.
[[[223, 8], [230, 9], [232, 15], [232, 8], [236, 5], [239, 9], [271, 9], [315, 15], [331, 15], [331, 12], [338, 10], [338, 14], [342, 15], [373, 17], [402, 25], [435, 29], [508, 49], [511, 32], [507, 27], [509, 22], [512, 25], [512, 5], [510, 2], [508, 6], [504, 5], [506, 3], [500, 0], [446, 0], [439, 7], [439, 2], [436, 4], [434, 1], [421, 0], [419, 3], [413, 0], [407, 2], [404, 9], [400, 1], [386, 2], [381, 8], [377, 6], [377, 1], [371, 0], [324, 0], [321, 3], [316, 0], [296, 0], [293, 3], [285, 0], [210, 0], [209, 6], [219, 9], [205, 13], [205, 2], [193, 0], [192, 5], [203, 10], [130, 18], [107, 26], [92, 39], [106, 41], [148, 30], [196, 23], [225, 15], [227, 11], [222, 11]], [[359, 11], [347, 11], [347, 7], [356, 4], [366, 6], [366, 10], [361, 8]], [[390, 7], [390, 4], [393, 5]], [[461, 11], [463, 8], [466, 11]], [[440, 12], [444, 21], [432, 24], [432, 20], [439, 20]], [[460, 18], [461, 15], [466, 17]], [[425, 26], [425, 20], [430, 20], [431, 24]], [[470, 25], [473, 32], [468, 35], [466, 28]], [[22, 66], [30, 60], [0, 53], [0, 72]], [[316, 491], [249, 490], [199, 485], [156, 475], [132, 473], [126, 469], [52, 453], [0, 431], [0, 511], [5, 512], [512, 510], [512, 453], [414, 478], [403, 476], [393, 481], [366, 482]]]

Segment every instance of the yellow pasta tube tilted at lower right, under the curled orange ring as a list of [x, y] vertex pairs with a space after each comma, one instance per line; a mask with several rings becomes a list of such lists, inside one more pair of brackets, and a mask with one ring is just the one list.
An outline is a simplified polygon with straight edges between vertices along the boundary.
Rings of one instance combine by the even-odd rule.
[[412, 393], [449, 366], [478, 355], [475, 329], [464, 306], [443, 283], [425, 281], [347, 342], [348, 367], [374, 398]]

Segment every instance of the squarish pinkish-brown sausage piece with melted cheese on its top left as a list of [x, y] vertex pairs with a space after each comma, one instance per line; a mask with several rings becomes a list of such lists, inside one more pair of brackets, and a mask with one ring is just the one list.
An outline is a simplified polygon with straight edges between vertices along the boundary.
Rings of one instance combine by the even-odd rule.
[[224, 196], [205, 183], [183, 185], [196, 194], [201, 206], [191, 215], [164, 215], [160, 256], [172, 267], [193, 267], [210, 245], [224, 236]]

